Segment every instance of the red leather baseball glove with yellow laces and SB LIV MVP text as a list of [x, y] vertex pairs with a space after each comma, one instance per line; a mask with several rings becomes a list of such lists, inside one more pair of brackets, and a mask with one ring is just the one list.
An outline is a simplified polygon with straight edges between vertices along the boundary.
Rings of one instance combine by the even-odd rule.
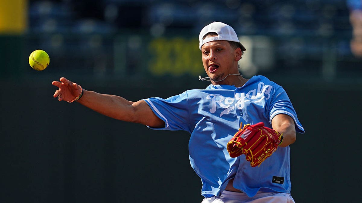
[[277, 131], [264, 127], [263, 122], [244, 125], [227, 143], [227, 151], [231, 157], [245, 154], [252, 167], [259, 166], [266, 158], [277, 150], [283, 136]]

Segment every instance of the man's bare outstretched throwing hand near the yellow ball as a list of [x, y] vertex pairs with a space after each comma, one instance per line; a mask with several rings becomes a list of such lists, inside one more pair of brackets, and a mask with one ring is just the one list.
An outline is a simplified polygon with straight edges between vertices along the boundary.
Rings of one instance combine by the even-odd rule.
[[59, 81], [53, 81], [51, 83], [52, 85], [59, 87], [53, 95], [54, 98], [58, 97], [59, 101], [64, 100], [69, 102], [81, 93], [81, 88], [77, 83], [71, 82], [64, 77], [60, 78]]

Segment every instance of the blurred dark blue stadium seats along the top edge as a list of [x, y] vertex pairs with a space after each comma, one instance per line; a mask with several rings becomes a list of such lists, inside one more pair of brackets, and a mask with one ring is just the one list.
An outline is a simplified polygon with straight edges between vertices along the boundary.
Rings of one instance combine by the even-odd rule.
[[[98, 33], [111, 33], [115, 31], [112, 27], [119, 30], [162, 25], [165, 29], [188, 28], [198, 33], [202, 26], [213, 21], [228, 23], [236, 27], [239, 34], [324, 35], [350, 31], [346, 23], [348, 9], [340, 0], [30, 2], [30, 31], [82, 32], [92, 29]], [[94, 25], [90, 25], [92, 23]]]

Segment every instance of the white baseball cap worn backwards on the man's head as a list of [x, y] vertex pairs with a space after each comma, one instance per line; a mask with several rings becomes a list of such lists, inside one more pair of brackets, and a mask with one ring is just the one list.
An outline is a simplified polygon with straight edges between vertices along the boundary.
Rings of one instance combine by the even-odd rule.
[[[208, 38], [202, 40], [202, 38], [207, 33], [211, 33], [211, 32], [218, 34], [218, 36], [212, 36], [212, 37], [208, 37]], [[239, 42], [241, 51], [247, 50], [240, 43], [239, 38], [237, 38], [237, 35], [235, 33], [235, 30], [232, 29], [232, 27], [230, 25], [226, 25], [225, 23], [222, 23], [222, 22], [212, 22], [201, 30], [200, 35], [199, 35], [200, 50], [201, 50], [202, 45], [204, 45], [207, 42], [211, 42], [211, 41], [215, 41], [215, 40], [226, 40], [226, 41], [232, 41], [232, 42]]]

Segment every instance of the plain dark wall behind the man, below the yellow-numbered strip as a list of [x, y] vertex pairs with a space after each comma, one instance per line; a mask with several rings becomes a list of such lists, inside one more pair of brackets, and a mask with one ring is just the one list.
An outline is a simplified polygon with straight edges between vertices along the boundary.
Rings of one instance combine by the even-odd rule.
[[[188, 88], [78, 80], [130, 100]], [[201, 202], [188, 133], [150, 130], [58, 102], [50, 83], [1, 82], [3, 202]], [[306, 129], [290, 146], [295, 201], [359, 202], [360, 196], [344, 194], [358, 194], [361, 181], [361, 85], [281, 84]]]

